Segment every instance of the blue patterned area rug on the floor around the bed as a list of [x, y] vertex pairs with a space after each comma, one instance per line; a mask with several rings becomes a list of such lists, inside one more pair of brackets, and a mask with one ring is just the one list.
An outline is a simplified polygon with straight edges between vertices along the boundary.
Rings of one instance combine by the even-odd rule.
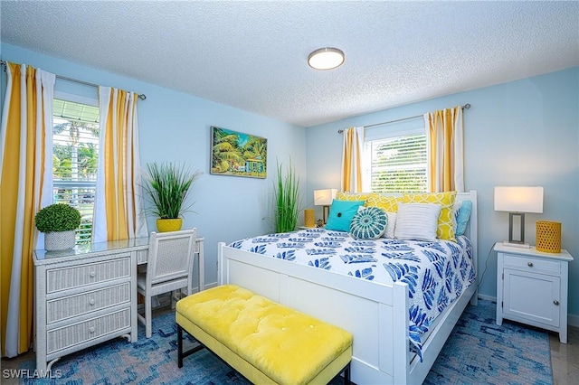
[[[172, 313], [153, 318], [153, 336], [145, 338], [139, 324], [137, 343], [117, 339], [63, 357], [46, 380], [21, 379], [23, 384], [249, 384], [206, 350], [176, 364], [176, 325]], [[191, 343], [191, 342], [189, 342]], [[185, 349], [189, 346], [185, 342]], [[35, 362], [21, 369], [33, 373]], [[341, 383], [333, 381], [332, 384]], [[468, 306], [444, 345], [424, 384], [551, 384], [548, 335], [519, 324], [495, 324], [495, 305], [479, 301]], [[359, 384], [363, 385], [363, 384]]]

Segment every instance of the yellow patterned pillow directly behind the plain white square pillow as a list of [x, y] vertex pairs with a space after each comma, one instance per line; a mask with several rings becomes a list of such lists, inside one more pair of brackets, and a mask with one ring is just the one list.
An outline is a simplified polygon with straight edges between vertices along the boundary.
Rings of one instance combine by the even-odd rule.
[[442, 206], [438, 217], [436, 236], [439, 239], [456, 241], [455, 224], [452, 215], [452, 206], [456, 199], [456, 192], [407, 193], [403, 195], [404, 203], [438, 203]]

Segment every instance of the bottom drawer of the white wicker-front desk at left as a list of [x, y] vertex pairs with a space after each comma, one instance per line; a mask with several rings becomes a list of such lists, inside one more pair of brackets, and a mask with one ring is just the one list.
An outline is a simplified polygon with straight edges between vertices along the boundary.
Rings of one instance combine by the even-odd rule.
[[123, 329], [130, 329], [130, 308], [49, 331], [46, 335], [46, 353], [51, 354], [79, 343], [88, 343], [101, 335]]

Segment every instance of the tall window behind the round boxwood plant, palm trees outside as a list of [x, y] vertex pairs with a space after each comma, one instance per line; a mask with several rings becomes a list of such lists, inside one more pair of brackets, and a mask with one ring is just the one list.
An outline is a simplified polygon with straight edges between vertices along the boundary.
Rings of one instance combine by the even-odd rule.
[[54, 99], [53, 109], [53, 202], [67, 203], [81, 211], [81, 226], [76, 238], [77, 243], [87, 243], [92, 231], [99, 164], [99, 108]]

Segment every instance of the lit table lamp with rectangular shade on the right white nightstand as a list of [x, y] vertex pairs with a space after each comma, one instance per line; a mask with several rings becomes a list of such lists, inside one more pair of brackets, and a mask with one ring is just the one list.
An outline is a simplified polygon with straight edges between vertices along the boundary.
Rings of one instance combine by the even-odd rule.
[[[543, 212], [543, 187], [495, 187], [495, 211], [508, 211], [508, 241], [504, 242], [505, 245], [528, 248], [525, 242], [525, 213]], [[518, 237], [513, 232], [516, 220], [520, 229]]]

